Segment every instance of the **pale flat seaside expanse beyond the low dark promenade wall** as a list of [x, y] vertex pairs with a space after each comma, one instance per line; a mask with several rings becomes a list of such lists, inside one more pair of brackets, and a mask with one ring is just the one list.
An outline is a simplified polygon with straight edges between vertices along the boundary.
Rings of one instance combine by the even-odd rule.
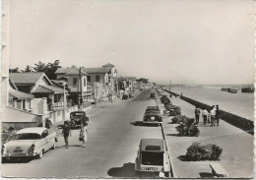
[[208, 105], [218, 104], [221, 110], [254, 120], [254, 93], [230, 93], [221, 89], [220, 86], [175, 86], [170, 90]]

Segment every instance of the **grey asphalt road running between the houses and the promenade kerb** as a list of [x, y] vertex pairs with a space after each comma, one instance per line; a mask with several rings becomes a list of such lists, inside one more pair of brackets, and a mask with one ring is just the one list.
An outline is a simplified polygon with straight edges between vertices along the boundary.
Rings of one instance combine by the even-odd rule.
[[63, 137], [55, 150], [41, 159], [21, 159], [2, 164], [5, 177], [84, 177], [134, 178], [134, 161], [143, 138], [162, 138], [160, 127], [141, 126], [148, 105], [156, 105], [151, 90], [144, 90], [130, 100], [102, 104], [90, 117], [88, 142], [81, 147], [79, 130], [72, 130], [70, 148]]

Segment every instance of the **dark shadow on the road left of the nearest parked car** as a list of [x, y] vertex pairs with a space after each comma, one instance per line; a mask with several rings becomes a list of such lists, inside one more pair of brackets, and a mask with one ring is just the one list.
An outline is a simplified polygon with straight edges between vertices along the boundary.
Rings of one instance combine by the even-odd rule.
[[107, 171], [107, 175], [112, 177], [124, 177], [124, 178], [134, 178], [136, 176], [135, 164], [125, 163], [122, 167], [113, 167]]

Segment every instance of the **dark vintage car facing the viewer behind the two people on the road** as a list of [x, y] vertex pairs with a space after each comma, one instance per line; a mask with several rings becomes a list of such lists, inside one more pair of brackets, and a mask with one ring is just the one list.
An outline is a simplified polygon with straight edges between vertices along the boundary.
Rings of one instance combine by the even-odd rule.
[[74, 111], [70, 113], [70, 127], [80, 127], [82, 121], [86, 121], [87, 123], [89, 121], [85, 111]]

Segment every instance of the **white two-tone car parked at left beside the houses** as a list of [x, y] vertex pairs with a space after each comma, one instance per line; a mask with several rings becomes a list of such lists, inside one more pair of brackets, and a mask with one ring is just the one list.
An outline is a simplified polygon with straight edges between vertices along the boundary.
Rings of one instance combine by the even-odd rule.
[[56, 133], [50, 133], [44, 127], [25, 128], [9, 137], [9, 141], [2, 147], [2, 157], [37, 156], [43, 152], [55, 149]]

